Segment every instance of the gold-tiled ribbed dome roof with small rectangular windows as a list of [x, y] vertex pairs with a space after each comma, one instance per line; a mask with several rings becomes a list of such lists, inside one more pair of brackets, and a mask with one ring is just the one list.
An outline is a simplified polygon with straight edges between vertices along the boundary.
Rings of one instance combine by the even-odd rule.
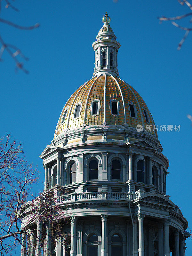
[[[93, 102], [96, 102], [96, 112], [93, 111]], [[116, 102], [117, 113], [112, 113], [112, 102]], [[54, 138], [69, 129], [82, 126], [121, 125], [136, 128], [138, 124], [143, 127], [155, 125], [139, 93], [118, 77], [101, 75], [84, 83], [68, 99], [61, 112]], [[150, 133], [157, 138], [156, 132]]]

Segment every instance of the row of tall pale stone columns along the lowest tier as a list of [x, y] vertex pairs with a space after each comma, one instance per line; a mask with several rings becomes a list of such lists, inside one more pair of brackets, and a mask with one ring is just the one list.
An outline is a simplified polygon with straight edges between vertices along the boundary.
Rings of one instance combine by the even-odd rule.
[[[134, 223], [134, 246], [133, 252], [131, 255], [134, 256], [144, 256], [144, 217], [145, 215], [139, 213], [137, 217], [133, 217]], [[101, 215], [101, 251], [98, 255], [100, 256], [107, 256], [107, 215]], [[77, 224], [78, 217], [71, 216], [71, 249], [70, 249], [70, 256], [83, 256], [82, 249], [83, 249], [83, 222], [81, 222], [81, 229], [80, 229], [80, 237], [77, 241], [76, 236], [76, 224]], [[166, 219], [158, 223], [158, 256], [170, 256], [170, 247], [169, 247], [169, 224], [170, 220]], [[42, 221], [37, 220], [37, 233], [36, 233], [36, 249], [34, 250], [34, 236], [31, 237], [30, 243], [27, 243], [26, 233], [22, 234], [22, 248], [21, 248], [21, 256], [26, 256], [27, 252], [30, 256], [42, 256]], [[163, 232], [164, 227], [164, 232]], [[79, 227], [78, 227], [79, 232]], [[174, 231], [174, 250], [173, 256], [184, 256], [184, 245], [185, 239], [179, 240], [179, 229], [175, 229]], [[47, 223], [46, 226], [46, 239], [44, 244], [44, 256], [50, 255], [51, 252], [51, 224], [50, 222]], [[139, 238], [139, 239], [138, 239]], [[61, 256], [61, 238], [55, 239], [56, 241], [56, 256]], [[139, 242], [139, 243], [138, 243]], [[33, 246], [32, 246], [33, 244]], [[63, 250], [65, 251], [65, 243], [63, 243]], [[63, 254], [63, 256], [65, 253]]]

